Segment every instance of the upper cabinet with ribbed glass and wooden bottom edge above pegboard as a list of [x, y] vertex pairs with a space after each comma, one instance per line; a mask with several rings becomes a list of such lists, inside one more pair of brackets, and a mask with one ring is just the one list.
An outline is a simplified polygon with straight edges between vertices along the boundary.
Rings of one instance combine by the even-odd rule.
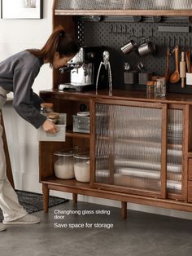
[[[55, 15], [191, 15], [190, 0], [55, 0]], [[118, 11], [117, 11], [118, 10]]]

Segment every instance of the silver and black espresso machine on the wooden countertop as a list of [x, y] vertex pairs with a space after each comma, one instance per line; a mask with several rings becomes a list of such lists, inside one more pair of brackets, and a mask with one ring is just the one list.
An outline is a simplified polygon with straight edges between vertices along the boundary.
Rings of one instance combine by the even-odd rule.
[[[59, 84], [59, 90], [94, 90], [103, 46], [83, 46], [60, 73], [70, 72], [70, 82]], [[101, 84], [101, 83], [100, 83]]]

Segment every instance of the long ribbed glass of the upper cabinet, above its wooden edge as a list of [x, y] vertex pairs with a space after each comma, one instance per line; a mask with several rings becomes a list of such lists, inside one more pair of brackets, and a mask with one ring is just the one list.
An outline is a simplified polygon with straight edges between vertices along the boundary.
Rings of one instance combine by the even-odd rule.
[[190, 10], [191, 0], [57, 0], [56, 10]]

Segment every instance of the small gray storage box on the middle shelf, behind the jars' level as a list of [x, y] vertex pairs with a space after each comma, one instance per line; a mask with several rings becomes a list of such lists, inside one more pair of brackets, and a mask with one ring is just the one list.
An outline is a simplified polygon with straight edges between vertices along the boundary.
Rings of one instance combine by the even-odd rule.
[[81, 133], [90, 133], [90, 117], [81, 117], [73, 115], [73, 131]]

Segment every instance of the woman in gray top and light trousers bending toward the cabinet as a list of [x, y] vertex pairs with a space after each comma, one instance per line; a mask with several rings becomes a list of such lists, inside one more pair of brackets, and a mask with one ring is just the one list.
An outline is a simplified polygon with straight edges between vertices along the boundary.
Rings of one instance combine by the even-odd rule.
[[[34, 127], [42, 126], [48, 133], [55, 133], [54, 123], [39, 112], [41, 99], [33, 92], [32, 86], [42, 64], [50, 63], [50, 67], [61, 68], [79, 51], [76, 41], [59, 26], [50, 35], [41, 50], [25, 50], [12, 55], [0, 63], [0, 109], [7, 100], [7, 93], [13, 91], [13, 107], [20, 117]], [[5, 224], [39, 223], [40, 219], [28, 214], [20, 205], [14, 189], [6, 175], [6, 159], [2, 144], [2, 126], [0, 126], [0, 208], [3, 221], [0, 231], [6, 229]]]

